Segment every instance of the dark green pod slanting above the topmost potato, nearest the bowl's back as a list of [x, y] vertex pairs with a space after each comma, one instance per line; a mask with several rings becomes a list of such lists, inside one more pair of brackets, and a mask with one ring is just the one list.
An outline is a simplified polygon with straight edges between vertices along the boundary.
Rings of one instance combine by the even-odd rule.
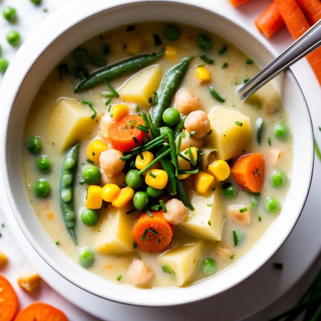
[[115, 64], [99, 69], [96, 72], [90, 74], [82, 82], [80, 82], [77, 85], [74, 92], [89, 89], [102, 82], [109, 82], [119, 76], [128, 74], [132, 71], [147, 66], [151, 64], [153, 61], [160, 58], [163, 55], [164, 51], [165, 50], [162, 49], [160, 52], [157, 53], [154, 52], [152, 54], [134, 56], [132, 58], [121, 60]]

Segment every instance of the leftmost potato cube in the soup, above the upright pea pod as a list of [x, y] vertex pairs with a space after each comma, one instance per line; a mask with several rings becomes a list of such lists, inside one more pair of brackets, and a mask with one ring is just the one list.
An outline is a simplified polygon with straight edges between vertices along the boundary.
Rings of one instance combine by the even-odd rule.
[[78, 100], [62, 98], [56, 102], [48, 117], [48, 131], [59, 152], [88, 136], [99, 117], [97, 114], [91, 119], [91, 115], [92, 110]]

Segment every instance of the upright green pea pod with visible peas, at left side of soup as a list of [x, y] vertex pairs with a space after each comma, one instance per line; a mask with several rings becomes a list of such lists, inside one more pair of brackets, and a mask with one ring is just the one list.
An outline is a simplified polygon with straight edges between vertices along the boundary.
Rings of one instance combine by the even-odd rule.
[[74, 243], [77, 245], [75, 235], [76, 213], [74, 206], [74, 179], [79, 157], [79, 143], [74, 145], [65, 155], [59, 179], [60, 207], [64, 217], [65, 225]]

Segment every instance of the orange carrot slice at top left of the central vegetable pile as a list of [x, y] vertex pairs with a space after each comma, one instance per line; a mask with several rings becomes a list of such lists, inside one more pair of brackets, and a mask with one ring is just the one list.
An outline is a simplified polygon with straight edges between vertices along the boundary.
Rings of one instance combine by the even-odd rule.
[[138, 115], [128, 115], [111, 124], [108, 128], [108, 138], [113, 148], [118, 151], [130, 152], [133, 148], [143, 143], [145, 133], [136, 128], [138, 124], [145, 126], [143, 118]]

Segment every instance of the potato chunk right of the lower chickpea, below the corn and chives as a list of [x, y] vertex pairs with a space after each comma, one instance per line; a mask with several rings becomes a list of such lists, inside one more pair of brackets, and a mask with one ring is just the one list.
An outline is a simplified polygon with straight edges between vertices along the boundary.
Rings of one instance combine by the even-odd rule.
[[221, 194], [220, 187], [208, 195], [200, 195], [194, 189], [189, 189], [189, 199], [195, 210], [189, 210], [186, 219], [178, 226], [195, 236], [221, 241], [225, 220]]

